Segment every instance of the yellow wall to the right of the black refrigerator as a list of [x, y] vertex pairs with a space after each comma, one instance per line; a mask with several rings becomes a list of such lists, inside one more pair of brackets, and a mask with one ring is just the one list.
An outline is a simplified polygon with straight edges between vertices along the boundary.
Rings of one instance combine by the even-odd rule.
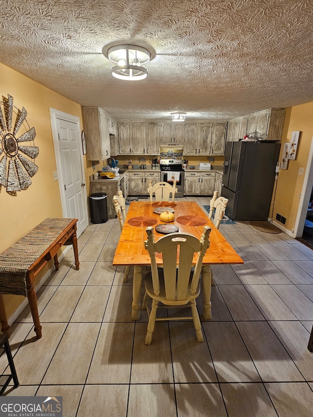
[[[295, 160], [288, 161], [287, 170], [280, 170], [272, 218], [276, 213], [287, 217], [286, 228], [291, 232], [299, 208], [299, 194], [302, 193], [304, 175], [298, 175], [299, 168], [308, 164], [308, 156], [313, 136], [313, 102], [294, 106], [286, 111], [281, 148], [285, 142], [291, 142], [291, 132], [301, 132]], [[279, 157], [281, 161], [282, 149]], [[305, 171], [304, 171], [305, 174]]]

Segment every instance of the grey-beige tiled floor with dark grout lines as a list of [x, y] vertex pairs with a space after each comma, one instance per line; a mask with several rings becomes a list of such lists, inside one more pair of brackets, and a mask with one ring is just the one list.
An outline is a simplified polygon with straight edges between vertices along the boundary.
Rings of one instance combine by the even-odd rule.
[[158, 322], [145, 346], [145, 311], [131, 320], [132, 277], [122, 284], [112, 266], [117, 220], [90, 225], [80, 270], [71, 250], [37, 294], [42, 339], [28, 307], [12, 326], [21, 386], [7, 395], [63, 395], [65, 417], [312, 417], [313, 250], [245, 222], [220, 230], [245, 263], [213, 266], [204, 343], [190, 322]]

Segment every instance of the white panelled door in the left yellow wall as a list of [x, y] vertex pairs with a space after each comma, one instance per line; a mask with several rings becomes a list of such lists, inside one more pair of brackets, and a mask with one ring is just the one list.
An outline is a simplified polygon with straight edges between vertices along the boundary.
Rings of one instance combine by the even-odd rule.
[[[51, 111], [63, 216], [78, 219], [77, 237], [87, 227], [86, 186], [79, 119]], [[70, 120], [70, 119], [74, 120]]]

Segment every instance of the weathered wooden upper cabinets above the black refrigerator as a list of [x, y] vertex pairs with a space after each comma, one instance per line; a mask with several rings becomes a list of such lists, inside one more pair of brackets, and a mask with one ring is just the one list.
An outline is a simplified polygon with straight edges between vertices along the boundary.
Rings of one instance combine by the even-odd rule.
[[281, 140], [285, 109], [267, 109], [233, 119], [228, 124], [227, 140], [238, 141], [255, 131], [267, 140]]

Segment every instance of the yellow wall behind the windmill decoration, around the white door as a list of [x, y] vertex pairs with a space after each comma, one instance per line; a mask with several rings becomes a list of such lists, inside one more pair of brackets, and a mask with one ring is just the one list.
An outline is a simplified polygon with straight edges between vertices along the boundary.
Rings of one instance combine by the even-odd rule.
[[[13, 105], [27, 111], [26, 120], [36, 130], [35, 146], [39, 155], [35, 159], [38, 172], [31, 178], [28, 189], [9, 195], [4, 187], [0, 190], [0, 253], [28, 233], [38, 223], [48, 217], [62, 217], [58, 181], [53, 179], [56, 163], [50, 123], [49, 108], [64, 111], [81, 119], [81, 107], [67, 98], [30, 80], [11, 68], [0, 64], [0, 94], [7, 98], [10, 94]], [[2, 98], [0, 98], [2, 101]], [[92, 172], [91, 163], [86, 166]], [[88, 177], [87, 177], [88, 178]], [[88, 187], [89, 181], [87, 180]], [[89, 194], [89, 189], [87, 190]], [[87, 195], [88, 195], [87, 194]], [[44, 273], [45, 271], [43, 271]], [[36, 283], [42, 277], [38, 276]], [[5, 296], [9, 317], [21, 304], [22, 296]]]

